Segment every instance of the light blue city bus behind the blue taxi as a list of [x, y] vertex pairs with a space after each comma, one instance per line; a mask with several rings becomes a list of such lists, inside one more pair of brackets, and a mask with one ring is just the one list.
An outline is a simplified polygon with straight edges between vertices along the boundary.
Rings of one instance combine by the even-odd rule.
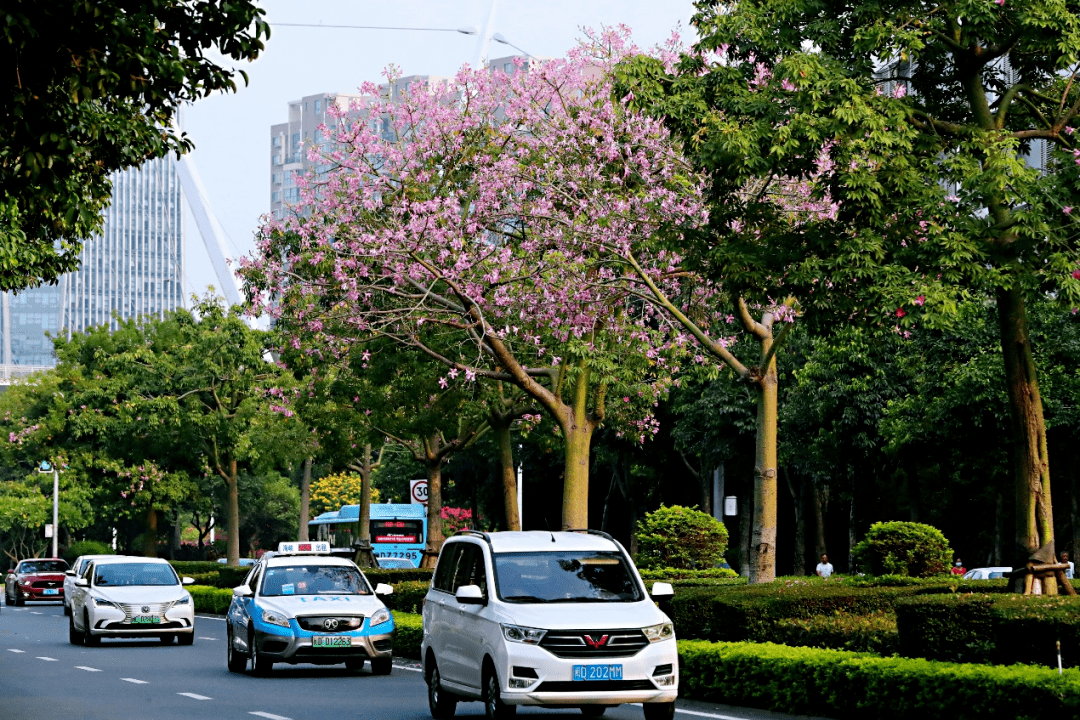
[[[360, 505], [342, 505], [323, 513], [308, 524], [314, 540], [332, 547], [351, 548], [360, 538]], [[428, 540], [428, 507], [419, 503], [378, 503], [372, 505], [372, 552], [380, 561], [401, 559], [420, 567]]]

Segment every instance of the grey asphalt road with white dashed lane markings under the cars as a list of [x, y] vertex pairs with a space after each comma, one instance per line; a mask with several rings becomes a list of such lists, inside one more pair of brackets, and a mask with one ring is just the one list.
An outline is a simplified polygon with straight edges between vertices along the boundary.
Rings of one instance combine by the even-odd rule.
[[[483, 717], [480, 703], [458, 706]], [[580, 720], [577, 710], [522, 708], [521, 715]], [[635, 706], [611, 708], [610, 720], [642, 720]], [[705, 703], [678, 703], [676, 720], [780, 720], [795, 716]], [[419, 665], [395, 661], [389, 676], [345, 666], [275, 665], [269, 678], [225, 667], [225, 622], [200, 615], [195, 642], [109, 640], [98, 648], [68, 643], [59, 603], [0, 610], [0, 718], [3, 720], [430, 720]], [[540, 720], [538, 718], [537, 720]]]

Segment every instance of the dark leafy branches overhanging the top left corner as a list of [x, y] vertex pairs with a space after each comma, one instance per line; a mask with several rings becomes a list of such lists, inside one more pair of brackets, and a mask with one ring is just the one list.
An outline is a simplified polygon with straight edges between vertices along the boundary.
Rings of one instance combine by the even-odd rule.
[[[102, 227], [109, 175], [191, 149], [177, 111], [247, 76], [270, 37], [252, 0], [4, 3], [0, 289], [55, 283]], [[212, 51], [213, 54], [208, 54]]]

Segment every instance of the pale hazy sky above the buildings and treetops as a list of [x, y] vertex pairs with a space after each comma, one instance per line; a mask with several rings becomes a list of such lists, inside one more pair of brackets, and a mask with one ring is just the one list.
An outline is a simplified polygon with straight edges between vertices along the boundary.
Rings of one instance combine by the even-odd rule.
[[[264, 0], [274, 23], [395, 27], [484, 27], [491, 0]], [[689, 39], [690, 0], [498, 0], [494, 32], [529, 54], [557, 57], [581, 37], [579, 28], [624, 24], [634, 41], [651, 46], [681, 26]], [[284, 122], [287, 104], [305, 95], [355, 92], [379, 81], [382, 69], [403, 74], [453, 76], [472, 64], [477, 37], [418, 30], [272, 27], [261, 57], [241, 66], [249, 84], [215, 95], [183, 112], [184, 130], [195, 144], [191, 153], [218, 220], [229, 235], [227, 256], [253, 248], [259, 217], [270, 208], [270, 125]], [[491, 42], [488, 57], [515, 54]], [[185, 295], [220, 287], [190, 212], [186, 214]]]

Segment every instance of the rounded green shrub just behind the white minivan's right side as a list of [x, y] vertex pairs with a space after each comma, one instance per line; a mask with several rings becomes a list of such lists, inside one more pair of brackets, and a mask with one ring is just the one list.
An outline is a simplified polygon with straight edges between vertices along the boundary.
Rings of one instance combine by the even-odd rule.
[[724, 560], [728, 529], [693, 507], [661, 505], [637, 524], [640, 568], [705, 569]]

